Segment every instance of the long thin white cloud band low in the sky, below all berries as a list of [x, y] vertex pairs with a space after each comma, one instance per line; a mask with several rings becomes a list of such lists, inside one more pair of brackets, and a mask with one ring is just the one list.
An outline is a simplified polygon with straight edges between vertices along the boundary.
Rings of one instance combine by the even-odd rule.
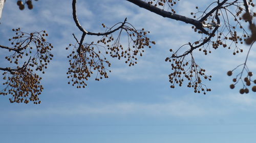
[[148, 116], [155, 118], [211, 117], [230, 115], [240, 111], [255, 111], [256, 98], [252, 95], [192, 95], [165, 96], [164, 102], [101, 102], [92, 104], [60, 105], [41, 109], [10, 111], [16, 116]]

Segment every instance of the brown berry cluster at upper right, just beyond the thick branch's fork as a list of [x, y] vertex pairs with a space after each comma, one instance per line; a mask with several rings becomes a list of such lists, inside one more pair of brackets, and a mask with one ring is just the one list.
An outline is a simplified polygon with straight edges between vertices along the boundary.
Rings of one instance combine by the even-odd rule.
[[[249, 6], [254, 7], [254, 4], [252, 1], [249, 2]], [[236, 55], [239, 52], [243, 52], [243, 49], [240, 49], [239, 44], [243, 44], [244, 41], [246, 41], [246, 38], [249, 37], [249, 34], [246, 32], [245, 28], [242, 26], [242, 17], [241, 14], [245, 12], [243, 3], [240, 2], [234, 2], [232, 4], [226, 3], [223, 5], [223, 8], [227, 9], [227, 14], [221, 15], [221, 13], [215, 13], [209, 15], [206, 19], [204, 19], [203, 24], [211, 23], [216, 24], [216, 15], [221, 19], [221, 27], [218, 28], [217, 32], [212, 34], [211, 38], [212, 40], [208, 41], [208, 44], [202, 45], [202, 47], [199, 49], [200, 51], [203, 51], [204, 54], [211, 53], [211, 47], [214, 49], [217, 49], [218, 47], [224, 47], [231, 49], [233, 48], [233, 55]], [[191, 15], [194, 15], [194, 18], [199, 17], [198, 19], [202, 18], [202, 13], [204, 11], [199, 11], [198, 7], [196, 7], [197, 12], [191, 12]], [[210, 9], [211, 10], [211, 9]], [[235, 14], [233, 14], [235, 13]], [[256, 13], [253, 13], [250, 11], [251, 15], [256, 16]], [[198, 16], [197, 16], [198, 15]], [[195, 26], [192, 26], [195, 32], [201, 33], [201, 31], [198, 31]], [[207, 30], [208, 28], [208, 30]], [[208, 33], [212, 33], [214, 30], [214, 26], [206, 27], [205, 30], [208, 31]], [[242, 31], [241, 31], [242, 30]], [[202, 34], [202, 38], [198, 42], [203, 42], [208, 37], [204, 37]]]

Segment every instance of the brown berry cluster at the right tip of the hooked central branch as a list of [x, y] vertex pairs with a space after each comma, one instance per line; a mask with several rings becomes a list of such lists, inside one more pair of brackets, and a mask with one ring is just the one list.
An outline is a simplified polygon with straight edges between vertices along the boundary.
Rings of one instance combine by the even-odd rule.
[[[102, 25], [104, 27], [104, 24]], [[150, 33], [149, 31], [145, 31], [144, 28], [142, 28], [142, 30], [136, 30], [134, 27], [131, 27], [132, 25], [129, 24], [124, 25], [116, 39], [113, 38], [113, 35], [105, 35], [97, 41], [97, 44], [103, 44], [105, 53], [110, 54], [112, 58], [118, 58], [118, 60], [123, 58], [125, 59], [126, 64], [134, 66], [138, 63], [138, 58], [136, 56], [142, 56], [144, 48], [151, 48], [150, 44], [156, 44], [156, 42], [150, 41], [150, 38], [147, 37], [147, 34]], [[110, 29], [107, 28], [107, 31], [109, 30]], [[120, 43], [122, 31], [126, 32], [125, 35], [127, 35], [127, 41], [129, 42], [126, 48]]]

